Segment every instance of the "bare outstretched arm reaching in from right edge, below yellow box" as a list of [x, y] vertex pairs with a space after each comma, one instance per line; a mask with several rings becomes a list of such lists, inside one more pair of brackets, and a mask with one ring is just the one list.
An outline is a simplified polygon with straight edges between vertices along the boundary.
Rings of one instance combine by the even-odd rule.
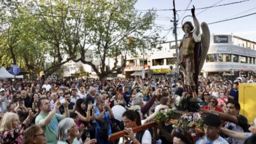
[[245, 140], [245, 139], [251, 137], [252, 135], [256, 134], [256, 126], [255, 126], [255, 124], [256, 124], [256, 118], [254, 119], [254, 122], [249, 127], [249, 131], [250, 132], [235, 132], [233, 130], [228, 130], [226, 128], [221, 128], [221, 132], [223, 132], [223, 134], [228, 135], [230, 137], [233, 137], [235, 139]]

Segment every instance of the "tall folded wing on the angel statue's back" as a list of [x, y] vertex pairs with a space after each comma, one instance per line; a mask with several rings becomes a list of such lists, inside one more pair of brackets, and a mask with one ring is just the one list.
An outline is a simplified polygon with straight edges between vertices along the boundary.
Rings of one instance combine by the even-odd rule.
[[211, 36], [209, 27], [205, 22], [202, 22], [201, 28], [202, 28], [202, 35], [201, 35], [202, 55], [199, 63], [199, 73], [202, 70], [203, 63], [205, 62], [205, 58], [209, 50], [210, 36]]

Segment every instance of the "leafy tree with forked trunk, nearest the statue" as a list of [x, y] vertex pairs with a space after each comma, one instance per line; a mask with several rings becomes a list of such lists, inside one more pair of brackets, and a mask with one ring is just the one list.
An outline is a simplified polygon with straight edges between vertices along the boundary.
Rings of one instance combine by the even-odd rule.
[[[150, 50], [159, 40], [157, 29], [149, 33], [156, 14], [152, 10], [144, 15], [138, 13], [134, 7], [136, 2], [135, 0], [90, 1], [92, 9], [95, 10], [93, 13], [95, 20], [92, 22], [92, 27], [89, 27], [87, 42], [93, 47], [94, 56], [100, 61], [100, 67], [97, 69], [96, 65], [85, 60], [83, 49], [79, 51], [81, 58], [77, 60], [91, 65], [100, 79], [113, 72], [121, 73], [128, 54], [137, 55], [144, 49]], [[117, 67], [120, 57], [121, 67]], [[107, 58], [115, 60], [112, 69], [106, 69]]]

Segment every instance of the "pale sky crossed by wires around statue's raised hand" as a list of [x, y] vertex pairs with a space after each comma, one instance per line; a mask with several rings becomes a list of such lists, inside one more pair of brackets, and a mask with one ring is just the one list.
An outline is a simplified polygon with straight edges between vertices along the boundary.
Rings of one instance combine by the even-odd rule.
[[[198, 8], [211, 7], [213, 5], [223, 5], [238, 1], [244, 2], [232, 5], [224, 5], [221, 7], [212, 7], [206, 10], [197, 10]], [[256, 42], [256, 0], [175, 0], [176, 10], [184, 10], [187, 7], [188, 9], [192, 9], [193, 5], [196, 8], [196, 18], [198, 18], [200, 23], [217, 22], [225, 18], [236, 18], [239, 16], [255, 13], [251, 16], [238, 18], [236, 20], [210, 24], [209, 29], [211, 34], [233, 34], [238, 37]], [[139, 12], [145, 12], [144, 10], [148, 9], [156, 9], [158, 16], [156, 17], [154, 25], [162, 27], [160, 34], [162, 37], [166, 37], [165, 41], [175, 40], [172, 30], [168, 30], [173, 27], [173, 23], [170, 22], [170, 20], [173, 20], [173, 11], [160, 11], [161, 9], [173, 9], [173, 0], [138, 0], [135, 5], [135, 9], [137, 9]], [[191, 15], [191, 11], [178, 11], [177, 14], [179, 15], [177, 16], [179, 19], [179, 25], [177, 27], [181, 27], [182, 18], [184, 18], [184, 16]], [[191, 17], [186, 17], [184, 18], [183, 23], [187, 20], [192, 22]], [[181, 28], [177, 30], [177, 33], [178, 39], [182, 39], [184, 32]]]

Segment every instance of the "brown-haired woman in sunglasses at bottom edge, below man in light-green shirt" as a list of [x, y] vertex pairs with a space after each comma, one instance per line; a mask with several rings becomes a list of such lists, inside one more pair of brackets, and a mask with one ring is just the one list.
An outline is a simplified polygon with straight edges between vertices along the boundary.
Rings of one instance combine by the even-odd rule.
[[22, 135], [22, 144], [46, 144], [45, 134], [39, 126], [27, 128]]

